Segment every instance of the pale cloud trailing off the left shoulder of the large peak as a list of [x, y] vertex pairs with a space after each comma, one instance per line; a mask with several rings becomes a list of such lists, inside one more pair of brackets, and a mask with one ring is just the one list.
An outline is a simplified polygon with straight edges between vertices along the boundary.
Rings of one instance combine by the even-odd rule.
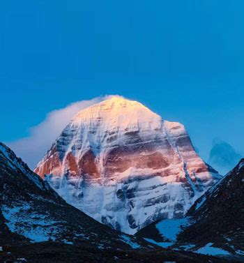
[[79, 110], [100, 103], [100, 101], [109, 97], [110, 96], [102, 96], [93, 98], [92, 100], [77, 101], [61, 110], [49, 112], [44, 121], [30, 128], [29, 137], [22, 138], [15, 142], [6, 142], [6, 144], [33, 169], [43, 158], [45, 152], [50, 148], [70, 119], [72, 119]]

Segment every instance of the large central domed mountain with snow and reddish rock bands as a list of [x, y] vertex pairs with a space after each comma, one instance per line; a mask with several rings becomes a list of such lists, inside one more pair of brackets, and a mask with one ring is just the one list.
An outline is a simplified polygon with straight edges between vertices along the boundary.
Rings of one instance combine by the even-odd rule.
[[128, 234], [181, 218], [220, 179], [181, 123], [118, 96], [78, 112], [35, 172], [69, 204]]

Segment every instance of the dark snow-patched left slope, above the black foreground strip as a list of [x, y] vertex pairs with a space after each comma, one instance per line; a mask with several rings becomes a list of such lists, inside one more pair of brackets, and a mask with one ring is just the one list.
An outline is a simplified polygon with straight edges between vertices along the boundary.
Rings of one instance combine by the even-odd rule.
[[67, 204], [0, 142], [0, 246], [50, 240], [101, 250], [147, 247]]

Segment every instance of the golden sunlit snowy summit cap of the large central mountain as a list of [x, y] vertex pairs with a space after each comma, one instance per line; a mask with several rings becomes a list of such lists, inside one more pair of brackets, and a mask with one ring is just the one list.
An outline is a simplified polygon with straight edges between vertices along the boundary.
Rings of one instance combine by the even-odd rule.
[[72, 119], [74, 126], [96, 128], [96, 133], [112, 130], [153, 130], [160, 128], [162, 118], [135, 100], [112, 96], [78, 112]]

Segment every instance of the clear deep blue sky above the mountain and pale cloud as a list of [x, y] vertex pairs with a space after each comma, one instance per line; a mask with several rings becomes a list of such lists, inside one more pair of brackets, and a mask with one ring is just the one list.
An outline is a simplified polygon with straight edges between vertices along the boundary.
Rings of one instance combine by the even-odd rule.
[[1, 1], [0, 140], [119, 94], [244, 153], [244, 1]]

